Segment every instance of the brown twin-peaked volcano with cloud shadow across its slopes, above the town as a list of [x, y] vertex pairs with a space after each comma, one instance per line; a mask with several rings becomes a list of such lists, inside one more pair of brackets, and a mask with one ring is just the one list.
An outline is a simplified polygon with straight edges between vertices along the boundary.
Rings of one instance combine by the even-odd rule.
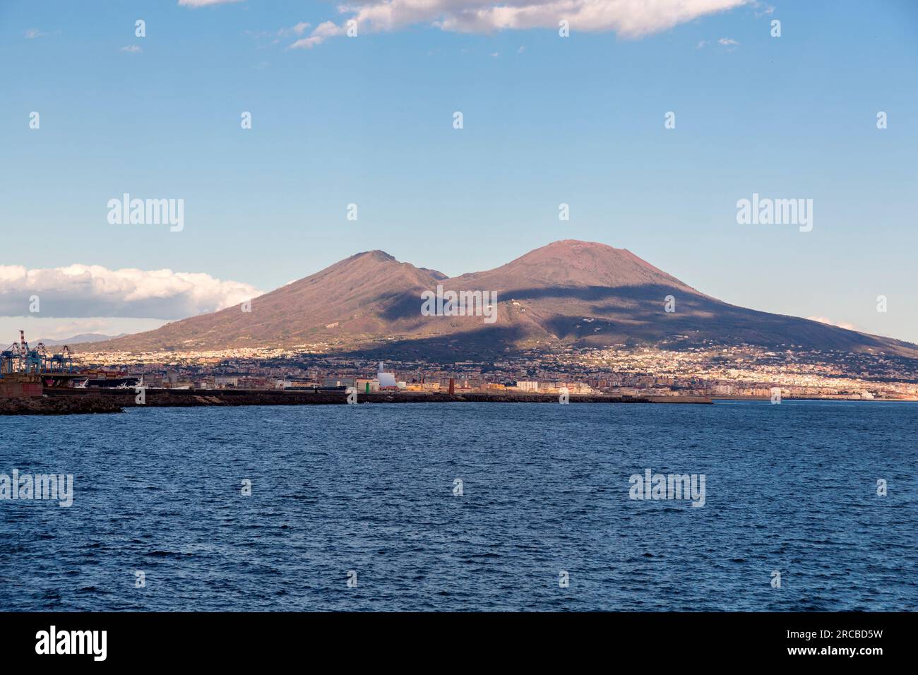
[[[421, 293], [496, 291], [497, 321], [422, 316]], [[675, 311], [665, 311], [667, 297]], [[523, 348], [672, 348], [705, 340], [884, 352], [918, 358], [918, 345], [818, 321], [744, 309], [711, 298], [625, 249], [565, 240], [485, 272], [447, 278], [371, 251], [252, 300], [92, 351], [218, 350], [325, 343], [340, 353], [393, 358], [481, 359]], [[88, 350], [85, 350], [88, 351]]]

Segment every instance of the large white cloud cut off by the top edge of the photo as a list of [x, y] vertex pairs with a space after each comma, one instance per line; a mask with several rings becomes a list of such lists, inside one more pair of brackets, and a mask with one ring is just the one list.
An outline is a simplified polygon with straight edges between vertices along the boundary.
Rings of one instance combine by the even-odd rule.
[[[426, 24], [457, 32], [558, 28], [566, 19], [572, 31], [614, 32], [639, 38], [714, 12], [745, 5], [749, 0], [351, 0], [341, 14], [356, 19], [361, 31], [397, 30]], [[330, 24], [334, 28], [327, 26]], [[323, 28], [325, 27], [325, 28]], [[310, 48], [343, 26], [327, 21], [292, 48]]]

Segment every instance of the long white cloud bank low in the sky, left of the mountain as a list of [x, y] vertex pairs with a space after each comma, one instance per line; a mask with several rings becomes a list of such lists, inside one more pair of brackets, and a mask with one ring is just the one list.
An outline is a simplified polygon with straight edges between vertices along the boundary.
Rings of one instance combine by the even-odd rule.
[[[238, 305], [261, 294], [249, 284], [170, 269], [0, 265], [0, 316], [174, 320]], [[39, 298], [37, 314], [29, 312], [31, 296]]]

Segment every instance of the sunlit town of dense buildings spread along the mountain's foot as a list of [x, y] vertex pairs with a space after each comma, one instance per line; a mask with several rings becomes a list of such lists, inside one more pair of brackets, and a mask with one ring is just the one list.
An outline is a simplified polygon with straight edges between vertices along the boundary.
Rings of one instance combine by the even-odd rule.
[[[520, 391], [618, 396], [918, 399], [918, 364], [884, 354], [802, 351], [782, 345], [607, 349], [567, 347], [508, 354], [494, 362], [386, 360], [378, 354], [341, 355], [328, 345], [233, 349], [218, 352], [81, 354], [100, 371], [127, 374], [150, 388], [381, 389], [413, 392]], [[87, 345], [91, 346], [91, 345]], [[451, 382], [452, 380], [452, 382]]]

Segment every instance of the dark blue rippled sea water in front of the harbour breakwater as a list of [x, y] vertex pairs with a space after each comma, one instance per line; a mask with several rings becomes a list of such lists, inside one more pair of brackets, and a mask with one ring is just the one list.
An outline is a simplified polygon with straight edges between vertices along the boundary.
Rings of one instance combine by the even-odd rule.
[[[74, 491], [0, 501], [0, 610], [918, 610], [916, 420], [787, 400], [0, 418], [0, 474]], [[631, 499], [647, 468], [704, 474], [704, 506]]]

